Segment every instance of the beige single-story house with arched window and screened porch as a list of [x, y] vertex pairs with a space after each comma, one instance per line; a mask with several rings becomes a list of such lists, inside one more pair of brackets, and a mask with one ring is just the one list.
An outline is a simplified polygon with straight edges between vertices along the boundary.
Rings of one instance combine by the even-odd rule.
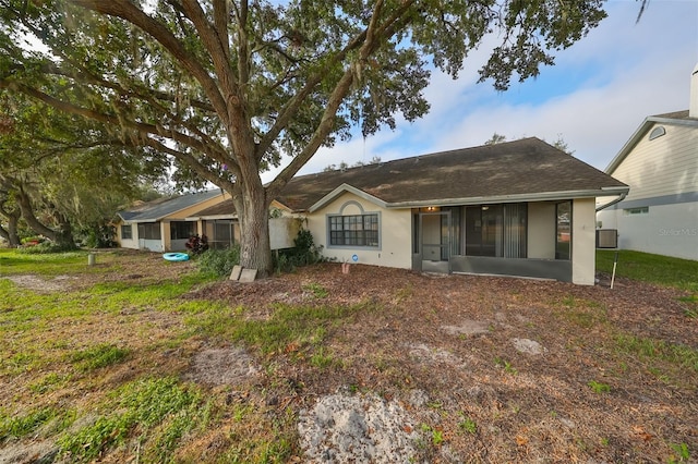
[[627, 192], [532, 137], [296, 176], [276, 199], [339, 261], [593, 284], [595, 198]]

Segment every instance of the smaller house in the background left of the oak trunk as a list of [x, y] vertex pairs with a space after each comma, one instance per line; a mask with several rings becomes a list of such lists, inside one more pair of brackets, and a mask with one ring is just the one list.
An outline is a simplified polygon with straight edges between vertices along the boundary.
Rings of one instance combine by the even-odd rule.
[[119, 211], [117, 242], [121, 247], [152, 252], [179, 252], [203, 229], [192, 213], [217, 205], [230, 195], [220, 190], [159, 198]]

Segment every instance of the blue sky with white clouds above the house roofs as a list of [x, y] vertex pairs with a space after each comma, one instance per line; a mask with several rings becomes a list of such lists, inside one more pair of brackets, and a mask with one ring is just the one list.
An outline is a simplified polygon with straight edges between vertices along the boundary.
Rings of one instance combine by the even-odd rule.
[[[555, 64], [507, 91], [478, 84], [488, 47], [472, 52], [458, 78], [432, 73], [429, 114], [398, 119], [365, 139], [321, 148], [299, 174], [330, 164], [408, 158], [474, 147], [494, 133], [507, 141], [562, 139], [576, 158], [603, 170], [649, 115], [687, 110], [690, 74], [698, 65], [698, 0], [650, 0], [639, 23], [640, 2], [609, 0], [607, 17]], [[284, 166], [282, 166], [284, 167]], [[282, 168], [281, 167], [281, 168]], [[270, 181], [278, 170], [263, 173]]]

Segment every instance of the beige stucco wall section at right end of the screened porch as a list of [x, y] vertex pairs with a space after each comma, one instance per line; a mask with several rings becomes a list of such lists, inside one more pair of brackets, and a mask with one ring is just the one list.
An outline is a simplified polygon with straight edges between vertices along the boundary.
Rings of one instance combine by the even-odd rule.
[[595, 273], [595, 202], [575, 199], [571, 206], [571, 281], [593, 285]]

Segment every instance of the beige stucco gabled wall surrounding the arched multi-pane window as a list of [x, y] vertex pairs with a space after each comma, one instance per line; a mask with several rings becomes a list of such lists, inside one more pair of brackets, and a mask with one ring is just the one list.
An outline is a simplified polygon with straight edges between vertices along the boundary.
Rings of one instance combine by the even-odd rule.
[[[337, 248], [328, 246], [327, 215], [380, 213], [380, 248]], [[322, 245], [323, 256], [339, 262], [387, 266], [410, 269], [411, 256], [411, 211], [406, 209], [383, 209], [357, 195], [345, 193], [324, 208], [308, 215], [308, 230], [313, 234], [315, 245]]]

